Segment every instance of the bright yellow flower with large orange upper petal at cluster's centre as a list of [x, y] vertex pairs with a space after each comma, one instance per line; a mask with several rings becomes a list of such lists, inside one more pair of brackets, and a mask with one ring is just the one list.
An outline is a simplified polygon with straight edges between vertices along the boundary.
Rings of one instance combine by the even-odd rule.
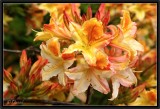
[[[87, 63], [90, 66], [96, 66], [95, 54], [100, 51], [103, 54], [103, 59], [107, 61], [107, 55], [103, 53], [103, 47], [109, 43], [110, 35], [103, 32], [101, 21], [91, 18], [85, 21], [82, 26], [71, 22], [69, 28], [75, 43], [71, 44], [64, 53], [82, 52]], [[106, 65], [101, 67], [105, 68], [106, 66], [107, 62]]]

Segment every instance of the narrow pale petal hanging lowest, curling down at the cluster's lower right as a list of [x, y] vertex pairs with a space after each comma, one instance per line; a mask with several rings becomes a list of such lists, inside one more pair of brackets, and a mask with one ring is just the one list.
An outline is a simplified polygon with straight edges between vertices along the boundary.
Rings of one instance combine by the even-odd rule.
[[113, 86], [113, 92], [112, 92], [112, 98], [109, 100], [113, 101], [118, 96], [120, 83], [116, 78], [112, 78], [112, 86]]

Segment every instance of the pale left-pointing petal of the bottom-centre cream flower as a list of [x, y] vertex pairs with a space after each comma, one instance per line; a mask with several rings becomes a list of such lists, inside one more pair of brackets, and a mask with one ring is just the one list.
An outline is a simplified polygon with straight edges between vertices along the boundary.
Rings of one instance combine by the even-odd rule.
[[65, 74], [68, 76], [68, 78], [73, 80], [79, 80], [82, 78], [83, 72], [65, 72]]

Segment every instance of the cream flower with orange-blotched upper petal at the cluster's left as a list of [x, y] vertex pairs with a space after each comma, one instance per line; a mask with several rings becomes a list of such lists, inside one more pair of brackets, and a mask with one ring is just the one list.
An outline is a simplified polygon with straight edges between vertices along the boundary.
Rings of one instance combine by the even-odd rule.
[[64, 60], [60, 53], [58, 38], [51, 38], [45, 44], [41, 44], [41, 56], [48, 59], [49, 63], [42, 70], [42, 80], [49, 80], [58, 75], [59, 83], [66, 85], [67, 77], [64, 72], [70, 67], [74, 59]]

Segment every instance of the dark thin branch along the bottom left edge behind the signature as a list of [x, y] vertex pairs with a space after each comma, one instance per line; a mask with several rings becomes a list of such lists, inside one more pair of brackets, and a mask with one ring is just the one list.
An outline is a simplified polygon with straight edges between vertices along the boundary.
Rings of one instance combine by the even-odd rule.
[[38, 99], [6, 99], [3, 101], [4, 105], [7, 103], [17, 103], [17, 104], [23, 104], [23, 103], [37, 103], [37, 104], [51, 104], [51, 105], [78, 105], [75, 103], [68, 103], [68, 102], [60, 102], [60, 101], [49, 101], [49, 100], [38, 100]]

